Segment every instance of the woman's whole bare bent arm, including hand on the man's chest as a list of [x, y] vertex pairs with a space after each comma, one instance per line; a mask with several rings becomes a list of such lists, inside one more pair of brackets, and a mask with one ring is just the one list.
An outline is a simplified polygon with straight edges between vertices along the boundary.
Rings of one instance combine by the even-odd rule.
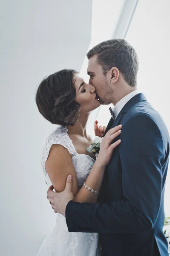
[[[112, 128], [104, 137], [98, 159], [95, 161], [92, 170], [86, 179], [86, 185], [93, 190], [99, 191], [104, 177], [104, 170], [112, 156], [113, 149], [120, 144], [120, 141], [111, 143], [120, 133], [119, 127]], [[107, 142], [106, 142], [107, 141]], [[45, 164], [46, 171], [56, 192], [62, 192], [66, 186], [66, 178], [69, 174], [73, 177], [72, 192], [76, 202], [94, 203], [97, 201], [98, 194], [94, 194], [84, 186], [78, 191], [77, 176], [72, 164], [71, 154], [62, 145], [52, 145], [48, 160]]]

